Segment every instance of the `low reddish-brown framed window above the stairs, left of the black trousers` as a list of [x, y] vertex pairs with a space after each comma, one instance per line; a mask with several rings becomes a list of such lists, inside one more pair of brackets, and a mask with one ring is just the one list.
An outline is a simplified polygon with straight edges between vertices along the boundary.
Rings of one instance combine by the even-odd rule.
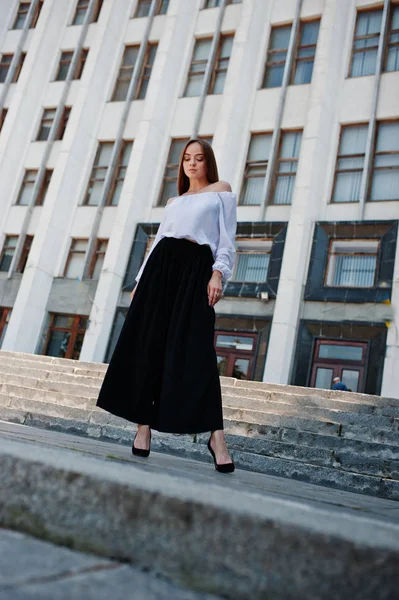
[[43, 354], [79, 360], [88, 317], [51, 313]]

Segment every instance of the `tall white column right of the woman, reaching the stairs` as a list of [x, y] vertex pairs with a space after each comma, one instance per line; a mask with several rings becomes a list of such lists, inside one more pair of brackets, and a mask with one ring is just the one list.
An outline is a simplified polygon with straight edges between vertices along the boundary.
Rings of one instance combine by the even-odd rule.
[[[287, 230], [263, 381], [289, 383], [314, 222], [323, 214], [326, 164], [344, 77], [349, 3], [327, 0], [320, 23], [301, 160]], [[284, 117], [283, 117], [284, 127]]]

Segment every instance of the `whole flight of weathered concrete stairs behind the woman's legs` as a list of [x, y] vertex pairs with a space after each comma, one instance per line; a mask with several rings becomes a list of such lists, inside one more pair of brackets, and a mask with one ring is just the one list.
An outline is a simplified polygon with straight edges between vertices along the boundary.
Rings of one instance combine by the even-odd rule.
[[[0, 419], [131, 444], [95, 406], [107, 365], [0, 351]], [[399, 500], [399, 399], [221, 377], [237, 467]], [[210, 460], [208, 434], [154, 432], [155, 451]]]

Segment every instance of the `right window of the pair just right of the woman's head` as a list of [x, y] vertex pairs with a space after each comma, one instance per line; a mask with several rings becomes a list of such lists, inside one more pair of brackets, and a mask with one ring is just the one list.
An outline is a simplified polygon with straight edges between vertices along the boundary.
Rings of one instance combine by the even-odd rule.
[[292, 204], [301, 140], [301, 131], [284, 131], [281, 135], [274, 184], [274, 204]]

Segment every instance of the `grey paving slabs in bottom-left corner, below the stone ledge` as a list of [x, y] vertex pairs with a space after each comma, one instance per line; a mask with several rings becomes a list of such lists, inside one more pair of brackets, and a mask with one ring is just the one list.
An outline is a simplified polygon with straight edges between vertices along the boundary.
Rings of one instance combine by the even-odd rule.
[[0, 529], [0, 556], [0, 600], [217, 600], [9, 529]]

